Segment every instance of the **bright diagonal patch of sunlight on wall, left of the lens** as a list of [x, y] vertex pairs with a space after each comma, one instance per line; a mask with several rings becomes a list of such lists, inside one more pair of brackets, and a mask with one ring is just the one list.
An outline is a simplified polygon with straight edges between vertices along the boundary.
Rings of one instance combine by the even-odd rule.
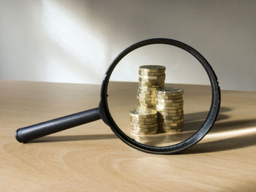
[[100, 83], [106, 58], [100, 35], [86, 25], [86, 20], [79, 20], [60, 3], [49, 0], [42, 3], [45, 35], [56, 44], [45, 56], [48, 80]]

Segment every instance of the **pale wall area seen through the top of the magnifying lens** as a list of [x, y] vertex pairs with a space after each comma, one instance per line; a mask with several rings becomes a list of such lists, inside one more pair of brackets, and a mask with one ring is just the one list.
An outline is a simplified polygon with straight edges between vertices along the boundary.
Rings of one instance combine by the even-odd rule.
[[210, 85], [200, 62], [185, 50], [170, 45], [148, 45], [132, 51], [118, 63], [110, 80], [138, 82], [142, 65], [165, 66], [167, 83]]

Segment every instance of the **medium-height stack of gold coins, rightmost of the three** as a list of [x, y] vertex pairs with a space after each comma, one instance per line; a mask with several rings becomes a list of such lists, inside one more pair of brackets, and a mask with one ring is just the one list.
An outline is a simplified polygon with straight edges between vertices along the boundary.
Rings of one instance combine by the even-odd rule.
[[160, 88], [156, 92], [159, 130], [167, 133], [181, 131], [184, 124], [181, 88]]

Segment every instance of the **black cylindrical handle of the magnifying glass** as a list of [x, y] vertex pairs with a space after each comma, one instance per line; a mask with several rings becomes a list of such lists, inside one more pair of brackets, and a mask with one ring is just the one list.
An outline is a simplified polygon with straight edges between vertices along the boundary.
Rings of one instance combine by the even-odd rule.
[[29, 142], [32, 139], [44, 137], [48, 134], [53, 134], [59, 131], [63, 131], [67, 128], [80, 126], [84, 123], [90, 123], [91, 121], [99, 119], [99, 107], [97, 107], [91, 110], [67, 115], [62, 118], [48, 120], [42, 123], [35, 124], [33, 126], [19, 128], [15, 132], [15, 137], [18, 142]]

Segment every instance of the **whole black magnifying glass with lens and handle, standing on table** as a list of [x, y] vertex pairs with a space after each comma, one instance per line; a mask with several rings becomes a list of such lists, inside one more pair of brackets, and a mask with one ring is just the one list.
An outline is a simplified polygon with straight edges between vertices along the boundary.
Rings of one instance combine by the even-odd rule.
[[[200, 77], [202, 71], [211, 86], [167, 83], [177, 77]], [[123, 50], [105, 73], [100, 96], [97, 108], [19, 128], [15, 137], [29, 142], [102, 119], [137, 150], [177, 153], [208, 133], [221, 100], [217, 76], [203, 55], [183, 42], [163, 38], [146, 39]]]

